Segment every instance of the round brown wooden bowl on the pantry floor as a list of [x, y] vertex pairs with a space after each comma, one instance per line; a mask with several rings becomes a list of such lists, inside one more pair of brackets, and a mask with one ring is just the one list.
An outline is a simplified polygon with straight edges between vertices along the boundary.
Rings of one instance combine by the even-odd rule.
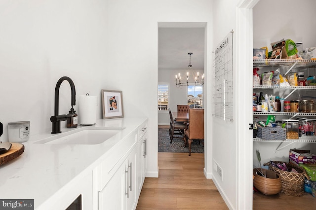
[[[256, 174], [256, 172], [261, 172], [261, 170], [266, 177]], [[281, 191], [281, 178], [275, 172], [267, 169], [256, 168], [253, 169], [253, 175], [255, 176], [253, 179], [253, 185], [261, 193], [265, 195], [275, 195]]]

